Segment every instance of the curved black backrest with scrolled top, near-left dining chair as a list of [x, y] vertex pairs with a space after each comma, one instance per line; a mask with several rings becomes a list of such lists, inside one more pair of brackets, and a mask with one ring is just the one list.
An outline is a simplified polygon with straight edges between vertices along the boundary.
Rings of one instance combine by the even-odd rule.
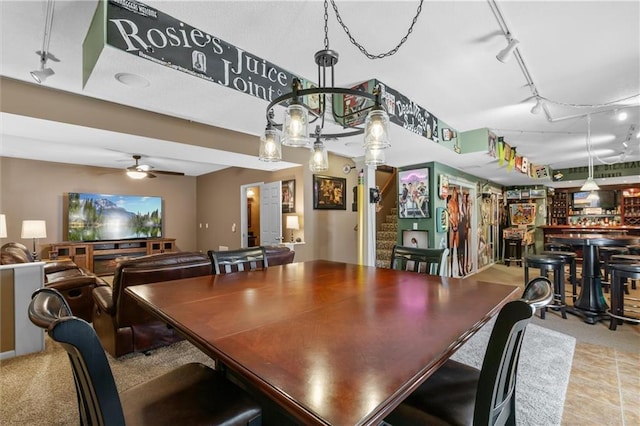
[[95, 330], [71, 316], [69, 306], [54, 289], [33, 293], [29, 319], [47, 330], [67, 351], [76, 384], [81, 425], [124, 425], [124, 414], [111, 367]]

